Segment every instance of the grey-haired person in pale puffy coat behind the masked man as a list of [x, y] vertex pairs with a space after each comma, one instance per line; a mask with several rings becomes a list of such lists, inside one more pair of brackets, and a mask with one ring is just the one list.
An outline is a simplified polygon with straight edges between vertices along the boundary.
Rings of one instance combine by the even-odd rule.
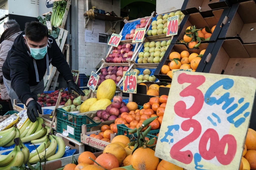
[[1, 99], [2, 100], [9, 100], [9, 106], [12, 110], [12, 102], [8, 93], [6, 91], [4, 82], [3, 82], [3, 72], [2, 67], [4, 61], [7, 57], [9, 49], [12, 47], [15, 38], [21, 34], [19, 24], [16, 20], [10, 19], [6, 23], [4, 23], [4, 32], [0, 37], [0, 85], [1, 85]]

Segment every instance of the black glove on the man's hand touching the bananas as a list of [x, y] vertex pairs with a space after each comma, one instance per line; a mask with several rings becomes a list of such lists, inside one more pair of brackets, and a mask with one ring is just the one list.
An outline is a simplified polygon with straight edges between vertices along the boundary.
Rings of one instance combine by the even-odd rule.
[[27, 109], [28, 119], [31, 122], [36, 122], [36, 117], [38, 117], [38, 112], [42, 114], [42, 108], [40, 104], [38, 104], [36, 100], [30, 100], [27, 104], [27, 108], [28, 108]]

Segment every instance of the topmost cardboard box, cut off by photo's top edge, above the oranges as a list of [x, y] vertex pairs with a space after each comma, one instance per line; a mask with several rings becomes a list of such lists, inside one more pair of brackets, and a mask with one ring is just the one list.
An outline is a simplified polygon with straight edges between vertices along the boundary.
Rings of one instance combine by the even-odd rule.
[[226, 8], [231, 5], [232, 3], [229, 0], [185, 0], [181, 7], [181, 11], [185, 15], [196, 12], [207, 13], [212, 9]]

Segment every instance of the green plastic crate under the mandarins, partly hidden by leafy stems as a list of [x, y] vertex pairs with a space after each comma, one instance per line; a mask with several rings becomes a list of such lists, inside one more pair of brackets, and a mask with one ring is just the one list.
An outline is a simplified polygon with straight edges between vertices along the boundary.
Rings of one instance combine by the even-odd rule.
[[[127, 126], [125, 126], [124, 124], [118, 124], [117, 126], [117, 135], [124, 135], [124, 131], [126, 131], [126, 136], [131, 139], [132, 135], [129, 135], [128, 130], [130, 130], [130, 128], [128, 128]], [[149, 139], [153, 139], [154, 137], [157, 139], [157, 134], [159, 133], [160, 129], [156, 129], [156, 130], [150, 130], [148, 132], [148, 134], [146, 135], [146, 137], [148, 137]], [[135, 137], [137, 136], [136, 133], [133, 134]], [[133, 141], [133, 140], [131, 140]]]

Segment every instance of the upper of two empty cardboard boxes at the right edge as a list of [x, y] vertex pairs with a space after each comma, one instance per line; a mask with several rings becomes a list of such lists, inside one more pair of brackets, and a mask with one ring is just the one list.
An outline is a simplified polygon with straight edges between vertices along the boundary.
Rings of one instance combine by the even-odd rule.
[[242, 43], [256, 43], [255, 1], [233, 4], [219, 39], [239, 39]]

